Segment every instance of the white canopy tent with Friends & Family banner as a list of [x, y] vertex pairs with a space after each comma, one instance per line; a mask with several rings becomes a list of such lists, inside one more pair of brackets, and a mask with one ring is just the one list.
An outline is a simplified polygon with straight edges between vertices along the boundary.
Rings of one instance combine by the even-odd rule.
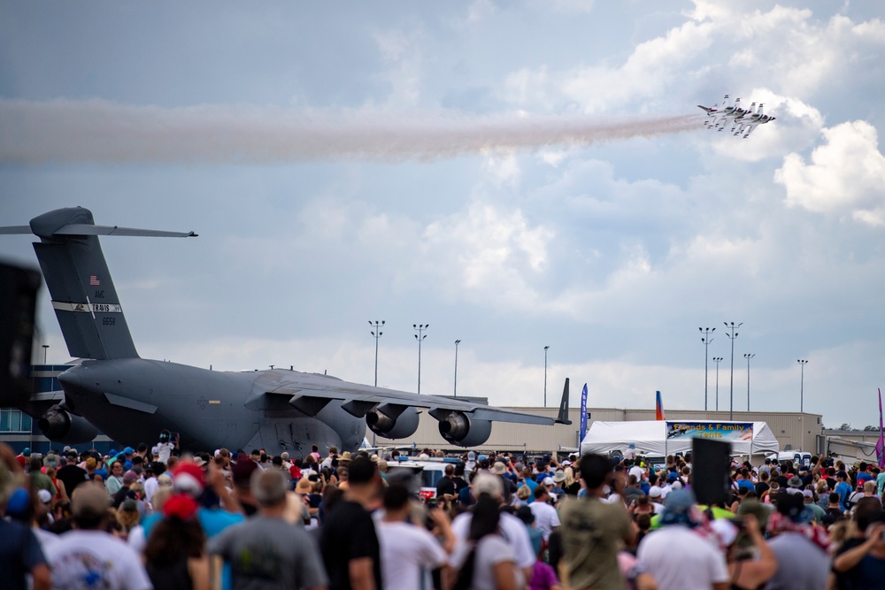
[[696, 437], [730, 442], [735, 455], [777, 452], [781, 448], [765, 422], [647, 420], [594, 422], [581, 441], [581, 455], [623, 453], [630, 443], [639, 453], [673, 455], [690, 451], [691, 440]]

